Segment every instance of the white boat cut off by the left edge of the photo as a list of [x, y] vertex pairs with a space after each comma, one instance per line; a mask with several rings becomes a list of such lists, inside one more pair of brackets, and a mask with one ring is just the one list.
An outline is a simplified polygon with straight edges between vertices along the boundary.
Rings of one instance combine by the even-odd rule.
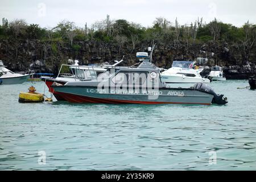
[[27, 81], [29, 77], [30, 75], [28, 74], [21, 75], [10, 71], [9, 69], [5, 68], [3, 61], [0, 60], [0, 85], [22, 84], [24, 81]]

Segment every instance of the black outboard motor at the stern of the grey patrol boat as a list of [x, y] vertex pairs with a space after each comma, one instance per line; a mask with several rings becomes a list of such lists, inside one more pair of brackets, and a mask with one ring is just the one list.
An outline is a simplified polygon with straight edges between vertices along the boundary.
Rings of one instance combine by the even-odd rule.
[[197, 83], [195, 86], [195, 89], [198, 89], [198, 90], [202, 90], [204, 92], [208, 92], [210, 94], [213, 94], [213, 100], [212, 100], [212, 104], [218, 104], [218, 105], [225, 105], [228, 103], [227, 98], [224, 97], [223, 98], [223, 94], [219, 95], [219, 94], [216, 94], [212, 88], [210, 88], [210, 86], [207, 86], [203, 83]]

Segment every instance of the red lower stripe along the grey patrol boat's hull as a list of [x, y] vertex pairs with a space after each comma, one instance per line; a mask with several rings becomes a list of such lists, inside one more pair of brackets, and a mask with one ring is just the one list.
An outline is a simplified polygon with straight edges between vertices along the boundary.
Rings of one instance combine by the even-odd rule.
[[200, 104], [200, 105], [210, 105], [208, 103], [185, 103], [185, 102], [154, 102], [154, 101], [129, 101], [129, 100], [113, 100], [109, 98], [93, 98], [86, 96], [77, 96], [75, 94], [62, 93], [61, 97], [63, 97], [66, 101], [76, 102], [76, 103], [103, 103], [103, 104]]

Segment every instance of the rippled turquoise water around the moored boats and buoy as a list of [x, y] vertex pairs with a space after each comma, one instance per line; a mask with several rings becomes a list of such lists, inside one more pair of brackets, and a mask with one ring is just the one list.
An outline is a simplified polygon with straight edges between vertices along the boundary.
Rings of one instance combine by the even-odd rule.
[[19, 104], [30, 85], [0, 85], [0, 169], [256, 169], [256, 91], [237, 89], [246, 80], [209, 84], [225, 106]]

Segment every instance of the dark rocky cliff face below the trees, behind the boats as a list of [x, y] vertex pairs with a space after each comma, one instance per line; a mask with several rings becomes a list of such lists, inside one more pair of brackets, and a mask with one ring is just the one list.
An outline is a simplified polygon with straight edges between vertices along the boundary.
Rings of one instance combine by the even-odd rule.
[[[67, 43], [48, 42], [41, 40], [23, 40], [18, 45], [16, 56], [15, 43], [10, 40], [0, 40], [0, 60], [3, 60], [8, 69], [15, 72], [34, 69], [35, 72], [49, 72], [57, 74], [61, 64], [68, 64], [68, 60], [79, 60], [80, 64], [88, 65], [95, 63], [113, 63], [125, 55], [122, 65], [132, 65], [137, 60], [135, 53], [144, 51], [149, 42], [133, 49], [129, 44], [124, 45], [119, 52], [119, 45], [115, 42], [80, 41], [74, 42], [79, 49], [70, 48]], [[214, 52], [213, 52], [214, 51]], [[169, 43], [166, 46], [157, 45], [154, 52], [154, 61], [158, 67], [170, 68], [172, 60], [195, 60], [197, 57], [205, 57], [208, 61], [204, 63], [205, 70], [202, 75], [210, 72], [210, 67], [221, 65], [227, 79], [247, 79], [255, 75], [255, 64], [253, 61], [241, 60], [241, 55], [234, 53], [235, 46], [225, 43], [194, 44], [188, 50], [184, 44]], [[216, 61], [218, 60], [218, 61]]]

